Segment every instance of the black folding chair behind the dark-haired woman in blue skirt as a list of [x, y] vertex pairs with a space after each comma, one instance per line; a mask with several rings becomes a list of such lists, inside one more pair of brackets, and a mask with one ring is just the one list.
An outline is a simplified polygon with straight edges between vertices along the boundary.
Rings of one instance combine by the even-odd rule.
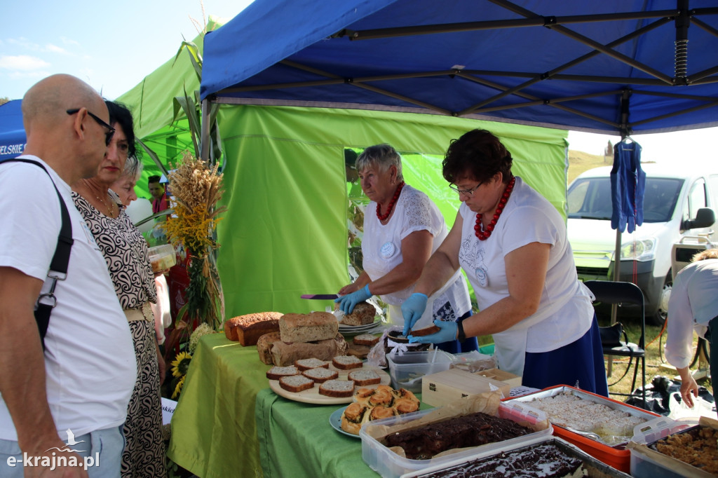
[[[645, 406], [645, 304], [643, 303], [643, 292], [635, 285], [630, 282], [615, 282], [615, 281], [585, 281], [584, 284], [593, 292], [596, 296], [597, 302], [603, 304], [634, 304], [640, 306], [640, 338], [638, 344], [628, 341], [628, 335], [623, 330], [623, 326], [620, 327], [623, 337], [620, 337], [616, 343], [603, 344], [603, 355], [618, 356], [618, 357], [629, 357], [628, 367], [623, 374], [625, 377], [630, 370], [635, 357], [635, 369], [633, 371], [633, 382], [631, 383], [631, 392], [635, 390], [635, 380], [638, 377], [638, 362], [641, 365], [641, 377], [643, 387], [643, 406]], [[607, 332], [607, 329], [611, 327], [600, 327], [602, 332]], [[612, 385], [620, 382], [623, 379], [621, 377]], [[613, 393], [613, 395], [625, 395], [633, 396], [633, 393]]]

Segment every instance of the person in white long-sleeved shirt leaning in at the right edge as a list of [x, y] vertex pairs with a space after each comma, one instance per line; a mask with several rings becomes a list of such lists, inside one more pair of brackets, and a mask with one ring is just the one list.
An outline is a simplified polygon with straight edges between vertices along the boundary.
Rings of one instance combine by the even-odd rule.
[[[709, 344], [711, 377], [718, 377], [718, 249], [701, 250], [673, 281], [668, 299], [666, 360], [681, 375], [681, 397], [689, 407], [698, 396], [698, 384], [689, 365], [693, 331]], [[715, 397], [715, 387], [713, 387]]]

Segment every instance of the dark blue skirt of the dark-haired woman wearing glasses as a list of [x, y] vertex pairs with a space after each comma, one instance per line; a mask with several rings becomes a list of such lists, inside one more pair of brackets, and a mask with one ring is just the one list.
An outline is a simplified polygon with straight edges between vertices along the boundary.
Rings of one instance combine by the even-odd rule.
[[526, 352], [522, 383], [540, 389], [570, 385], [607, 397], [608, 383], [596, 314], [591, 328], [575, 342], [549, 352]]

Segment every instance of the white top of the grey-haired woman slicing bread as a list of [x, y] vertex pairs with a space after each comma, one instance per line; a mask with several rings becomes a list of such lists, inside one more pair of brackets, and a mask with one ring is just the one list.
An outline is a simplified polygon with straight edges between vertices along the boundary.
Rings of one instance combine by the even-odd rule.
[[[448, 230], [442, 213], [437, 205], [424, 192], [406, 184], [394, 205], [391, 219], [383, 225], [376, 217], [376, 202], [370, 202], [364, 215], [364, 238], [361, 250], [364, 256], [363, 267], [372, 281], [386, 276], [393, 268], [404, 261], [401, 253], [401, 240], [417, 230], [426, 230], [434, 236], [432, 254], [447, 237]], [[444, 291], [432, 296], [432, 314], [434, 319], [456, 320], [471, 310], [469, 289], [464, 277], [459, 274], [450, 279], [452, 283]], [[392, 306], [401, 306], [414, 292], [414, 285], [381, 299]], [[401, 318], [399, 318], [401, 319]], [[398, 321], [395, 317], [394, 322]], [[429, 324], [426, 324], [428, 326]]]

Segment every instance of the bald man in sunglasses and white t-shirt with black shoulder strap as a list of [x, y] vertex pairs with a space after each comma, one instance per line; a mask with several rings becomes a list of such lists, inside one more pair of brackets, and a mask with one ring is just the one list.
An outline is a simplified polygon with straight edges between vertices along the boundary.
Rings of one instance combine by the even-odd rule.
[[[27, 146], [20, 158], [47, 173], [34, 164], [0, 164], [0, 477], [118, 477], [137, 370], [132, 337], [105, 259], [70, 197], [70, 184], [97, 173], [113, 128], [100, 95], [70, 75], [32, 86], [22, 116]], [[34, 308], [46, 303], [38, 296], [53, 282], [47, 276], [62, 224], [58, 195], [73, 244], [67, 276], [54, 290], [43, 355]], [[87, 471], [67, 466], [95, 461], [96, 453]], [[39, 461], [24, 467], [23, 456]], [[51, 470], [42, 458], [60, 465]]]

